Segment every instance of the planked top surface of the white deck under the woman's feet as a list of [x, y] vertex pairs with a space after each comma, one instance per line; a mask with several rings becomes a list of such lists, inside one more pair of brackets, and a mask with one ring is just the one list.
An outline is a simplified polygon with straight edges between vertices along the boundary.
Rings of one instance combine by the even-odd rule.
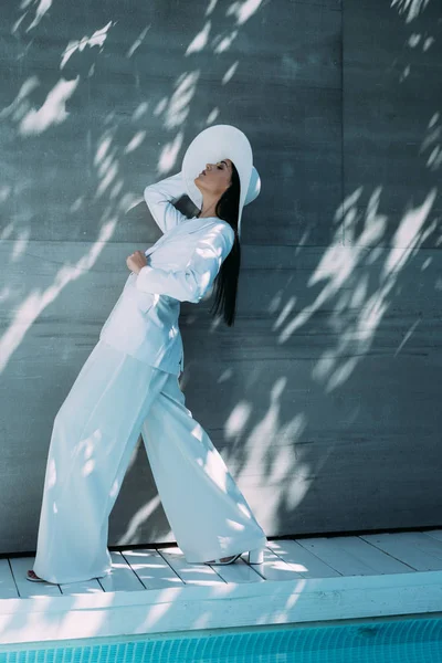
[[27, 580], [34, 557], [1, 559], [0, 599], [438, 571], [442, 529], [269, 540], [262, 565], [249, 565], [245, 552], [233, 565], [188, 564], [176, 546], [128, 548], [110, 556], [113, 572], [107, 578], [60, 586]]

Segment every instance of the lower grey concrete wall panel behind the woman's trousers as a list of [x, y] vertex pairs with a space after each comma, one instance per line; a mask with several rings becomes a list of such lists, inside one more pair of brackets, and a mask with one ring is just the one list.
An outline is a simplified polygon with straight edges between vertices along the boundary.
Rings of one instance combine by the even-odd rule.
[[[75, 249], [69, 246], [69, 257], [76, 264], [84, 246]], [[42, 311], [3, 371], [2, 408], [9, 413], [3, 434], [20, 441], [4, 450], [1, 477], [8, 496], [4, 523], [15, 547], [28, 549], [23, 530], [35, 535], [52, 419], [97, 340], [97, 319], [115, 301], [107, 284], [118, 291], [123, 274], [115, 265], [126, 252], [126, 245], [106, 245], [91, 270]], [[429, 503], [428, 485], [439, 481], [442, 422], [433, 387], [442, 362], [440, 312], [430, 296], [413, 308], [421, 292], [413, 266], [401, 273], [388, 313], [371, 328], [370, 319], [361, 322], [364, 308], [380, 293], [372, 286], [358, 305], [351, 296], [358, 283], [376, 276], [377, 265], [359, 264], [345, 286], [333, 288], [337, 274], [318, 267], [326, 251], [302, 249], [295, 264], [291, 248], [251, 246], [243, 253], [241, 315], [233, 330], [213, 327], [209, 301], [182, 306], [187, 366], [181, 387], [250, 504], [263, 519], [270, 506], [281, 515], [278, 533], [435, 524], [440, 504]], [[51, 286], [49, 255], [48, 244], [39, 243], [29, 256], [34, 291], [42, 294]], [[425, 273], [429, 292], [438, 270], [433, 260]], [[315, 273], [323, 283], [308, 288]], [[9, 274], [18, 303], [25, 301], [19, 269]], [[30, 317], [22, 316], [22, 324]], [[201, 360], [211, 356], [217, 359]], [[433, 387], [422, 393], [422, 385]], [[357, 508], [348, 508], [348, 494], [358, 495]], [[18, 505], [20, 520], [12, 518]], [[146, 505], [148, 515], [135, 517]], [[172, 540], [143, 446], [110, 517], [109, 540], [120, 545], [127, 538], [134, 544]]]

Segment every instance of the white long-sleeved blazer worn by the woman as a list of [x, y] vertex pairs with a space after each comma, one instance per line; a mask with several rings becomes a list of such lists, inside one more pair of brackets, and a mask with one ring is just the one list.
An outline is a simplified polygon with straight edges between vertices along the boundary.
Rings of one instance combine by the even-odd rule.
[[171, 201], [185, 192], [181, 172], [146, 187], [145, 200], [164, 234], [145, 251], [147, 265], [129, 274], [99, 333], [105, 343], [176, 375], [185, 367], [180, 302], [198, 303], [211, 288], [234, 241], [227, 221], [179, 212]]

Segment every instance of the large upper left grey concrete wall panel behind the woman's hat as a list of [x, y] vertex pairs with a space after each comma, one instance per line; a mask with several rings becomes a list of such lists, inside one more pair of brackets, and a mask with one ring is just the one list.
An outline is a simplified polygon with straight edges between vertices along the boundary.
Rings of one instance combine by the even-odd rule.
[[[117, 3], [110, 12], [87, 3], [81, 11], [54, 4], [48, 28], [42, 19], [30, 44], [3, 34], [12, 74], [2, 91], [9, 129], [2, 150], [11, 189], [3, 218], [19, 215], [30, 239], [93, 241], [107, 218], [122, 220], [125, 196], [139, 197], [146, 183], [158, 179], [165, 146], [180, 145], [178, 166], [185, 146], [218, 113], [218, 122], [246, 128], [263, 178], [253, 224], [244, 223], [244, 241], [297, 243], [308, 224], [311, 242], [327, 243], [323, 203], [332, 197], [333, 207], [338, 204], [340, 176], [336, 3], [269, 3], [243, 27], [221, 6], [207, 18], [204, 3], [166, 6], [154, 2], [122, 15]], [[77, 35], [91, 35], [109, 20], [114, 24], [102, 46], [75, 48]], [[198, 50], [196, 43], [183, 57], [209, 21], [207, 48]], [[65, 51], [72, 52], [69, 59]], [[38, 134], [32, 109], [48, 104], [54, 91], [65, 95], [66, 118]], [[130, 149], [137, 139], [138, 147]], [[133, 238], [123, 227], [110, 240]]]

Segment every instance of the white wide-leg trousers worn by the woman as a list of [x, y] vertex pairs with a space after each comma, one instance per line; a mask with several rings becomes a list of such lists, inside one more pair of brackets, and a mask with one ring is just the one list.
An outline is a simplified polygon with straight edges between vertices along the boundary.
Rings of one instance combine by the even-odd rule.
[[34, 572], [74, 582], [112, 572], [108, 517], [139, 434], [187, 561], [267, 544], [178, 377], [99, 340], [53, 424]]

